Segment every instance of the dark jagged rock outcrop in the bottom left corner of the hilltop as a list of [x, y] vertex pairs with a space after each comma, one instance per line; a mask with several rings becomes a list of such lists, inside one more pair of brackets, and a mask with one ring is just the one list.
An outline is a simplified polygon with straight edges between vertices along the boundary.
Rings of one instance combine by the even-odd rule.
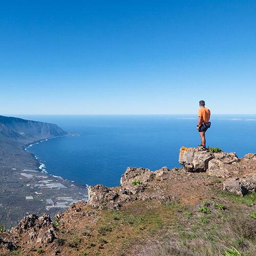
[[12, 234], [28, 237], [29, 244], [47, 246], [55, 239], [54, 226], [48, 214], [38, 217], [34, 214], [24, 217], [11, 229]]

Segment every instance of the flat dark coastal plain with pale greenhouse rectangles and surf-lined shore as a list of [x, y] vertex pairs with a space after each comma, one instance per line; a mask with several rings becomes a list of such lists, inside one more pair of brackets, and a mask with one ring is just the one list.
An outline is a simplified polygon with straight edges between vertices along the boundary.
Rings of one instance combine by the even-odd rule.
[[7, 159], [6, 164], [0, 166], [1, 225], [10, 228], [29, 214], [47, 213], [54, 217], [72, 203], [88, 201], [86, 184], [48, 174], [45, 163], [28, 151], [34, 144], [63, 136], [69, 135], [48, 137], [17, 146], [15, 158]]

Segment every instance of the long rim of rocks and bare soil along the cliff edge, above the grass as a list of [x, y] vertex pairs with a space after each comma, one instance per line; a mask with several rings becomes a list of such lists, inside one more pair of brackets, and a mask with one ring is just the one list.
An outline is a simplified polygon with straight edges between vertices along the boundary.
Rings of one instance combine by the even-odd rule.
[[36, 245], [38, 248], [45, 248], [51, 244], [49, 250], [57, 253], [60, 246], [54, 241], [58, 225], [75, 226], [75, 220], [90, 218], [95, 215], [95, 211], [119, 210], [126, 203], [137, 200], [197, 203], [200, 193], [211, 193], [209, 185], [217, 178], [221, 182], [214, 185], [218, 188], [222, 186], [222, 189], [230, 193], [244, 196], [255, 192], [255, 154], [247, 154], [239, 159], [235, 153], [211, 153], [198, 148], [182, 147], [179, 162], [183, 165], [182, 168], [162, 167], [152, 171], [147, 168], [128, 167], [119, 186], [89, 187], [88, 202], [73, 204], [66, 212], [57, 215], [54, 222], [49, 215], [25, 217], [16, 227], [0, 234], [0, 252], [15, 250], [18, 246], [26, 248]]

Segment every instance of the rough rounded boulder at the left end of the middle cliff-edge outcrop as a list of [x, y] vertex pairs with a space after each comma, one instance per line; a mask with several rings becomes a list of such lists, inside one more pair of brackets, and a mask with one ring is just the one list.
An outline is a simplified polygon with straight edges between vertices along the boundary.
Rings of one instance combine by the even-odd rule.
[[118, 209], [120, 204], [116, 202], [118, 193], [109, 187], [103, 185], [90, 186], [88, 188], [88, 205], [103, 209], [108, 207], [110, 209]]

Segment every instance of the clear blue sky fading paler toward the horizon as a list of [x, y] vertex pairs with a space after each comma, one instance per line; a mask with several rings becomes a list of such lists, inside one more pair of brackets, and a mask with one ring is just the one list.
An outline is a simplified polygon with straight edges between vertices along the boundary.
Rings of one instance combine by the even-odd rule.
[[2, 1], [1, 114], [256, 114], [255, 1]]

